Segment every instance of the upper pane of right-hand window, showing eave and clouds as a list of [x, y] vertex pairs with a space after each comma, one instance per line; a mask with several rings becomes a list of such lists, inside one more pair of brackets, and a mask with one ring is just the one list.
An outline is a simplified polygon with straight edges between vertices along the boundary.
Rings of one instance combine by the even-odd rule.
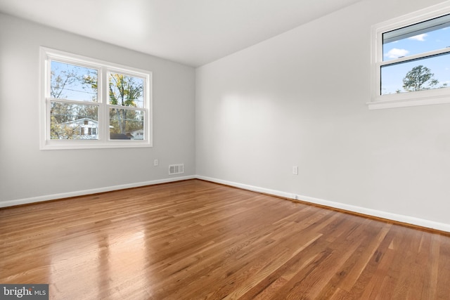
[[383, 61], [450, 46], [450, 15], [383, 34]]

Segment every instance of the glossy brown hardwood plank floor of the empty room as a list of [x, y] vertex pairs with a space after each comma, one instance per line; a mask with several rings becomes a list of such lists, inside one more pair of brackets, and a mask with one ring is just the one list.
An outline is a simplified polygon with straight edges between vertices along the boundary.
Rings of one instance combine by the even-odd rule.
[[450, 299], [450, 237], [190, 180], [0, 209], [50, 299]]

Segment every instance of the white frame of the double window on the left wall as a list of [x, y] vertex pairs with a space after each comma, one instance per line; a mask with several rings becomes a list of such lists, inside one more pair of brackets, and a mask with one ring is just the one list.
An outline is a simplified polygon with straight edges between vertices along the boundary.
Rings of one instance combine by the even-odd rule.
[[[152, 133], [152, 72], [127, 67], [116, 63], [109, 63], [103, 60], [87, 58], [73, 53], [58, 51], [51, 48], [40, 47], [40, 105], [39, 105], [39, 132], [41, 150], [60, 149], [89, 149], [89, 148], [141, 148], [153, 146]], [[97, 102], [83, 102], [77, 100], [53, 99], [50, 96], [50, 72], [51, 60], [58, 60], [62, 63], [82, 65], [98, 70], [98, 99]], [[143, 108], [123, 107], [121, 105], [108, 104], [108, 73], [116, 72], [139, 77], [144, 80], [143, 87]], [[83, 105], [98, 106], [98, 140], [56, 140], [51, 139], [50, 132], [50, 108], [51, 101], [63, 103], [75, 103]], [[143, 110], [144, 117], [144, 137], [143, 140], [112, 140], [109, 133], [109, 110], [110, 108], [126, 108], [127, 110]]]

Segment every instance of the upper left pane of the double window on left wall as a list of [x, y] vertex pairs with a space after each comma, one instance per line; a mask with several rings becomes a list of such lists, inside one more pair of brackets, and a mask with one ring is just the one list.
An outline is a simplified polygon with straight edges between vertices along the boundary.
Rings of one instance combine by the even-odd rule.
[[89, 67], [51, 60], [50, 96], [97, 102], [97, 73]]

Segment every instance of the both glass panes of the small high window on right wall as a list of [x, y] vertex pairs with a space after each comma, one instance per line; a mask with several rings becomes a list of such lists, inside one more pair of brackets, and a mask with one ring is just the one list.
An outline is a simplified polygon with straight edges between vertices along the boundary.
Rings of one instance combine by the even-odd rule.
[[450, 15], [382, 35], [386, 63], [380, 65], [380, 95], [450, 86], [450, 53], [445, 52], [450, 47]]

